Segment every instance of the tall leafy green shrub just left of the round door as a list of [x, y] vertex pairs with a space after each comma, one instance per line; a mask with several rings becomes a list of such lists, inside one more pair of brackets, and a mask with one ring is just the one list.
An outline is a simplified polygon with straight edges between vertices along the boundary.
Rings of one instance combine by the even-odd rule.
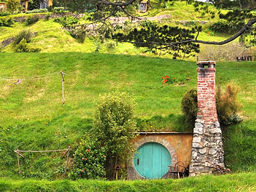
[[133, 121], [135, 101], [126, 92], [100, 95], [93, 121], [93, 133], [106, 148], [106, 177], [115, 177], [114, 167], [125, 164], [131, 156], [131, 140], [135, 137]]

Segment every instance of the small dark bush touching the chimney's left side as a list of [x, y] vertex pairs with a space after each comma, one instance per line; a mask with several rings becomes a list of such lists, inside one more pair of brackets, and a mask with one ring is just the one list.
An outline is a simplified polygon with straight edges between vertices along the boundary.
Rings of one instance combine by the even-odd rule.
[[182, 97], [182, 113], [185, 115], [185, 122], [192, 128], [198, 112], [198, 92], [196, 89], [190, 89]]

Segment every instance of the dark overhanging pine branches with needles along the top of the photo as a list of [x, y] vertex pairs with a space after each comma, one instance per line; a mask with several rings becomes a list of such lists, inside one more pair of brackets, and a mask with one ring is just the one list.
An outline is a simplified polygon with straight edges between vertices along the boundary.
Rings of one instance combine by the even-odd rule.
[[[136, 10], [138, 9], [139, 0], [126, 1], [101, 1], [101, 0], [57, 0], [55, 3], [66, 7], [71, 12], [85, 13], [92, 12], [92, 22], [105, 23], [106, 19], [115, 16], [117, 12], [129, 17], [136, 17]], [[162, 0], [158, 1], [159, 4]], [[195, 7], [202, 4], [198, 1], [188, 0], [188, 3], [193, 3]], [[179, 55], [185, 53], [190, 55], [192, 52], [198, 52], [198, 44], [227, 44], [235, 40], [244, 33], [247, 33], [252, 25], [256, 23], [255, 13], [252, 11], [256, 9], [255, 0], [209, 0], [208, 2], [214, 4], [218, 9], [227, 9], [225, 14], [219, 12], [220, 19], [225, 20], [226, 23], [217, 23], [213, 26], [214, 29], [223, 29], [222, 31], [232, 33], [229, 39], [224, 41], [201, 41], [198, 39], [198, 34], [201, 28], [191, 28], [190, 30], [184, 28], [171, 27], [167, 25], [160, 25], [158, 23], [151, 23], [150, 25], [142, 24], [139, 27], [130, 28], [130, 30], [119, 31], [112, 34], [111, 37], [117, 41], [128, 41], [135, 44], [137, 47], [147, 47], [152, 52], [157, 50], [165, 53], [172, 52], [172, 54]], [[150, 1], [149, 1], [150, 4]], [[203, 9], [207, 12], [209, 5], [205, 5]], [[209, 12], [214, 17], [215, 12]], [[85, 24], [82, 24], [85, 25]], [[79, 25], [81, 26], [81, 25]], [[114, 30], [115, 31], [115, 30]], [[235, 33], [235, 34], [234, 34]], [[256, 33], [255, 33], [256, 34]], [[110, 36], [109, 36], [110, 37]]]

